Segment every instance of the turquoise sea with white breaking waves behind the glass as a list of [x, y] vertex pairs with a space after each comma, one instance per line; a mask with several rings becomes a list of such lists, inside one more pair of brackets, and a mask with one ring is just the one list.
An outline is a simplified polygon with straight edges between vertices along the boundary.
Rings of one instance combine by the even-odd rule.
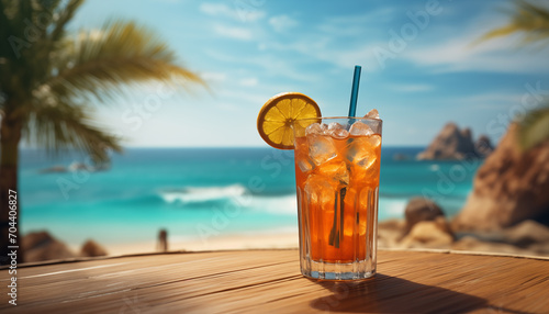
[[[456, 214], [472, 187], [479, 161], [393, 160], [422, 148], [382, 149], [379, 218], [403, 217], [412, 197], [435, 199]], [[87, 238], [132, 243], [170, 237], [296, 229], [292, 152], [272, 148], [130, 148], [105, 171], [41, 173], [85, 161], [23, 149], [20, 222], [23, 233], [48, 229], [69, 244]]]

